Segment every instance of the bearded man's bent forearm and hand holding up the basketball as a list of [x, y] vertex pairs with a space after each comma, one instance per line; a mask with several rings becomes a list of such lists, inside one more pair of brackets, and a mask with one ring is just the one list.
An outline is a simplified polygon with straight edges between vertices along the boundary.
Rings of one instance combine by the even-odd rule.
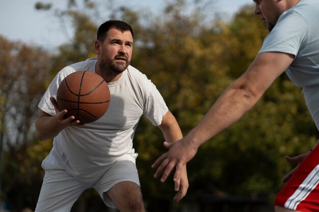
[[51, 139], [57, 136], [67, 126], [82, 125], [79, 120], [74, 120], [74, 116], [65, 118], [67, 110], [59, 110], [55, 98], [50, 97], [50, 101], [55, 107], [56, 115], [52, 116], [44, 111], [39, 115], [36, 121], [36, 133], [40, 140]]

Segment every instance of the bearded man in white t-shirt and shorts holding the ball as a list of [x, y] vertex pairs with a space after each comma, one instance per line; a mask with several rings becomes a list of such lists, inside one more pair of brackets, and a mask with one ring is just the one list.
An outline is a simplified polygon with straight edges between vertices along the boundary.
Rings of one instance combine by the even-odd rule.
[[[54, 138], [50, 154], [42, 162], [45, 170], [36, 211], [70, 211], [79, 195], [94, 188], [110, 207], [120, 211], [145, 211], [136, 168], [138, 156], [132, 139], [144, 114], [174, 142], [182, 138], [175, 117], [168, 110], [155, 85], [130, 66], [134, 33], [123, 21], [100, 25], [95, 41], [97, 58], [62, 69], [39, 103], [36, 122], [40, 140]], [[61, 81], [76, 71], [99, 74], [108, 83], [111, 103], [98, 120], [79, 124], [55, 100]], [[186, 167], [175, 182], [179, 201], [188, 189]]]

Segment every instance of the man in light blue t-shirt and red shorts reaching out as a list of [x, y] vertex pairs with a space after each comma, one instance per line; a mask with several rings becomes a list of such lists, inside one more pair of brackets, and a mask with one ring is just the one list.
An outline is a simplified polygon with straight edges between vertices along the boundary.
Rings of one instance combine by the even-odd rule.
[[[319, 129], [319, 1], [254, 0], [255, 14], [269, 30], [247, 71], [235, 80], [210, 108], [201, 122], [183, 139], [165, 146], [170, 150], [152, 165], [154, 177], [165, 181], [176, 166], [174, 180], [198, 147], [228, 128], [250, 110], [284, 71], [303, 94]], [[275, 211], [319, 211], [319, 147], [288, 159], [299, 162], [275, 200]], [[301, 163], [302, 162], [302, 163]], [[291, 178], [290, 178], [291, 177]]]

